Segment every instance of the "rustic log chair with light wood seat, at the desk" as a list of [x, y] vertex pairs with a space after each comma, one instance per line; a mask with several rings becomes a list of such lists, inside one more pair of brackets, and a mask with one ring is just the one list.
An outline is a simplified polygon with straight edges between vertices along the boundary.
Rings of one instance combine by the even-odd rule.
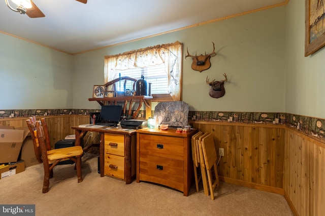
[[63, 160], [70, 159], [76, 163], [75, 169], [77, 169], [78, 183], [82, 182], [82, 147], [73, 146], [51, 150], [49, 132], [45, 119], [42, 118], [41, 121], [37, 121], [35, 117], [31, 117], [26, 120], [26, 123], [34, 143], [35, 155], [39, 162], [43, 162], [44, 166], [43, 193], [49, 191], [50, 178], [53, 177], [54, 166]]

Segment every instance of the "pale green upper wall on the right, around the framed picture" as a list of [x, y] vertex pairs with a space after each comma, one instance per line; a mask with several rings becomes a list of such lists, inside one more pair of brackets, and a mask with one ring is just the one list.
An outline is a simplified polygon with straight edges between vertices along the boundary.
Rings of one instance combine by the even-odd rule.
[[325, 49], [304, 57], [305, 1], [287, 5], [285, 109], [325, 118]]

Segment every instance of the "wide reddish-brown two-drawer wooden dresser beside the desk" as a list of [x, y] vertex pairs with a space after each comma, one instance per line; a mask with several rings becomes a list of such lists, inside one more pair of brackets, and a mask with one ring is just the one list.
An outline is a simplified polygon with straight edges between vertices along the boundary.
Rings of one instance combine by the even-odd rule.
[[197, 131], [137, 130], [137, 182], [165, 185], [188, 195], [192, 180], [190, 140]]

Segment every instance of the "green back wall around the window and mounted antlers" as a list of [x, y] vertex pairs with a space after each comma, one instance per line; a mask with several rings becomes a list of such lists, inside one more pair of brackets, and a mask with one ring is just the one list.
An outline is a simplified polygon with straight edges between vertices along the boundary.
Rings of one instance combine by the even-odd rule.
[[[167, 44], [183, 43], [183, 101], [190, 110], [283, 112], [285, 73], [285, 7], [187, 28], [127, 44], [74, 56], [74, 108], [98, 108], [88, 102], [94, 84], [104, 83], [104, 56]], [[209, 70], [193, 71], [185, 61], [191, 54], [212, 52], [212, 41], [219, 55], [211, 58]], [[210, 80], [223, 79], [225, 96], [208, 94]], [[82, 84], [81, 84], [82, 83]]]

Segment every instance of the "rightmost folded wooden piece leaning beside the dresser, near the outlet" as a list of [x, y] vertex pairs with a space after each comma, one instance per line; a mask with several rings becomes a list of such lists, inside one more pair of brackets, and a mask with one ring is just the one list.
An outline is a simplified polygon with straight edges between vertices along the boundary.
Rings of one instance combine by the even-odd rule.
[[[218, 156], [215, 150], [214, 139], [212, 134], [209, 134], [202, 139], [202, 150], [203, 150], [204, 163], [208, 174], [211, 199], [213, 200], [214, 199], [213, 191], [216, 186], [219, 186], [219, 178], [218, 178], [218, 171], [217, 171]], [[212, 171], [214, 171], [214, 175], [215, 175], [214, 181], [212, 178]]]

